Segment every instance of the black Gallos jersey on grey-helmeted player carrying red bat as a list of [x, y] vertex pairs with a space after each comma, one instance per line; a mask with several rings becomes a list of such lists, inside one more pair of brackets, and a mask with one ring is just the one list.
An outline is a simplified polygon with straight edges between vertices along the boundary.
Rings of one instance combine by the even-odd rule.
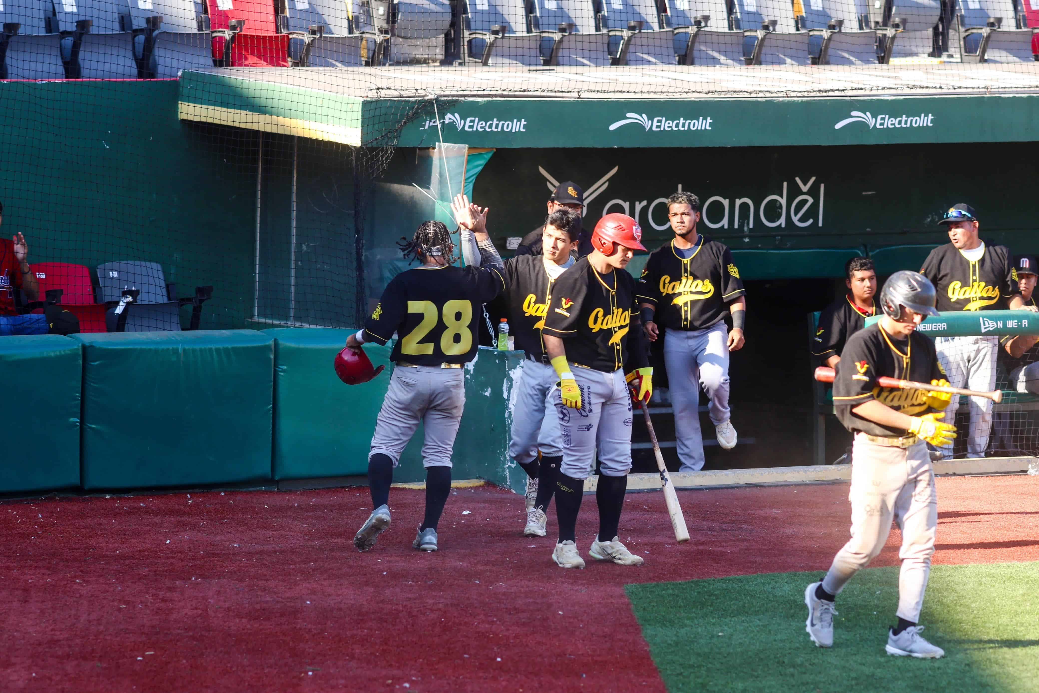
[[922, 390], [878, 387], [877, 378], [883, 376], [930, 382], [943, 379], [945, 372], [934, 352], [934, 342], [926, 335], [914, 331], [908, 340], [897, 340], [879, 322], [858, 330], [845, 344], [833, 380], [833, 406], [845, 428], [885, 437], [906, 435], [905, 430], [881, 426], [852, 412], [871, 399], [910, 417], [932, 410]]

